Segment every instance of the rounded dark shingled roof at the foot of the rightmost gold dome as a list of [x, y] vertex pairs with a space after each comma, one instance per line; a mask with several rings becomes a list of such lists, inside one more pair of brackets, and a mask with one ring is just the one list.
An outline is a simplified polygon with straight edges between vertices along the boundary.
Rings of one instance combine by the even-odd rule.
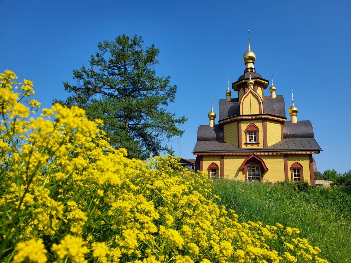
[[313, 128], [310, 121], [298, 121], [291, 123], [286, 121], [283, 124], [283, 138], [312, 138]]

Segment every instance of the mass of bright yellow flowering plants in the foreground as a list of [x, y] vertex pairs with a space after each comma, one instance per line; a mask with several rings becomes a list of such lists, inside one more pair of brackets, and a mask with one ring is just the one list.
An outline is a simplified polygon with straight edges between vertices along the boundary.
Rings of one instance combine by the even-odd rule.
[[0, 74], [2, 262], [327, 262], [296, 228], [239, 223], [176, 157], [127, 159], [78, 107], [34, 117], [16, 78]]

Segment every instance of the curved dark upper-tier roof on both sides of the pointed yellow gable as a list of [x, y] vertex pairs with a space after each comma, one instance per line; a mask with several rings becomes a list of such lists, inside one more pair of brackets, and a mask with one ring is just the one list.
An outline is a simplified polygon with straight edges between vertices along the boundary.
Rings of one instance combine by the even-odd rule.
[[[285, 118], [285, 102], [283, 95], [277, 95], [274, 99], [271, 96], [263, 97], [263, 113]], [[219, 120], [240, 115], [240, 103], [238, 99], [226, 101], [219, 100]]]

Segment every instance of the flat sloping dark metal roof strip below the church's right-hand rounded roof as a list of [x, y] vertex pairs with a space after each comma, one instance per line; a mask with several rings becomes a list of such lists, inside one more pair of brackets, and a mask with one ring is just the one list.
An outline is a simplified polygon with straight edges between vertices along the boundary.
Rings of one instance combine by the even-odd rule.
[[284, 139], [273, 144], [267, 149], [284, 150], [322, 150], [314, 138], [291, 138]]

